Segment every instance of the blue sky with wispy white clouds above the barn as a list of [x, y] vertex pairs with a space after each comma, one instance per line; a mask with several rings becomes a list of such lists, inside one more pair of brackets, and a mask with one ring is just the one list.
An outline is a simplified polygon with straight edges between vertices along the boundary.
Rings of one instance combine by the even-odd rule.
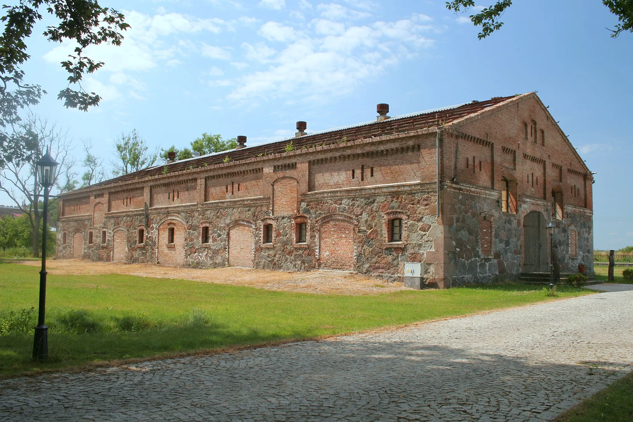
[[33, 111], [92, 139], [103, 158], [134, 128], [152, 146], [188, 146], [203, 132], [254, 144], [291, 135], [298, 120], [308, 132], [372, 120], [379, 102], [399, 115], [538, 90], [598, 172], [596, 249], [633, 244], [633, 34], [611, 39], [617, 18], [599, 0], [517, 0], [485, 40], [444, 0], [101, 3], [132, 28], [121, 47], [89, 50], [106, 63], [84, 82], [103, 96], [98, 108], [56, 100], [70, 44], [35, 35], [25, 70], [49, 92]]

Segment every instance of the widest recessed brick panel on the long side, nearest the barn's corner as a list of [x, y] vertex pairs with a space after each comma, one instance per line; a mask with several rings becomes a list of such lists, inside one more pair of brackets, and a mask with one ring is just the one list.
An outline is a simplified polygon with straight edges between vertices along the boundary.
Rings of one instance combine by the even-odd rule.
[[310, 192], [420, 180], [420, 146], [385, 148], [310, 161]]

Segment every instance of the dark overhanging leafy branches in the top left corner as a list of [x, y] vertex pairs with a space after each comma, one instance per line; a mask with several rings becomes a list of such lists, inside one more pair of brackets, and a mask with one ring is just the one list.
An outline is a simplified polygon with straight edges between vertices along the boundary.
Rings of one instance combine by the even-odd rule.
[[[40, 85], [24, 82], [25, 72], [21, 66], [30, 56], [27, 54], [27, 38], [34, 25], [41, 21], [43, 11], [53, 16], [55, 22], [46, 27], [42, 35], [53, 42], [70, 41], [75, 50], [61, 67], [68, 71], [68, 86], [61, 90], [58, 99], [66, 108], [87, 111], [99, 104], [94, 92], [85, 92], [80, 82], [84, 74], [93, 73], [103, 62], [85, 56], [89, 46], [109, 42], [120, 46], [122, 31], [130, 26], [125, 16], [118, 11], [104, 8], [97, 0], [20, 0], [13, 6], [4, 5], [4, 30], [0, 35], [0, 157], [3, 160], [30, 156], [34, 145], [28, 141], [28, 133], [15, 132], [22, 118], [20, 109], [37, 104], [46, 92]], [[78, 87], [78, 90], [73, 89]], [[8, 130], [11, 131], [8, 132]], [[0, 166], [4, 161], [0, 161]]]

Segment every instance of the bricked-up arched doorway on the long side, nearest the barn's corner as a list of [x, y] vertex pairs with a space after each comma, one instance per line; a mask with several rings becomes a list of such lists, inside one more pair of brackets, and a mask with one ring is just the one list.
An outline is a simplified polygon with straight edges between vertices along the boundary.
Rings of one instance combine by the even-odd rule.
[[329, 220], [319, 232], [319, 261], [328, 270], [354, 270], [354, 225], [345, 220]]

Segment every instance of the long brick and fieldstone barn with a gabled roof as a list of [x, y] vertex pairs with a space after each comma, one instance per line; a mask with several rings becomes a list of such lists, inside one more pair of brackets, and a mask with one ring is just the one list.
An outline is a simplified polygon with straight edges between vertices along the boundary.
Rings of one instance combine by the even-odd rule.
[[353, 270], [427, 287], [593, 270], [592, 173], [534, 92], [173, 161], [62, 195], [57, 258]]

